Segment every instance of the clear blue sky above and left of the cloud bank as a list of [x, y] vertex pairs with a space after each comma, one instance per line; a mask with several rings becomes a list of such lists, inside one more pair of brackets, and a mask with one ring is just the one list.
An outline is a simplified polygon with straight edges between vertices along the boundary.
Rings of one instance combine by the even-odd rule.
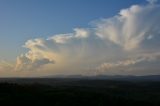
[[0, 0], [0, 58], [15, 60], [29, 39], [88, 27], [91, 21], [144, 3], [145, 0]]

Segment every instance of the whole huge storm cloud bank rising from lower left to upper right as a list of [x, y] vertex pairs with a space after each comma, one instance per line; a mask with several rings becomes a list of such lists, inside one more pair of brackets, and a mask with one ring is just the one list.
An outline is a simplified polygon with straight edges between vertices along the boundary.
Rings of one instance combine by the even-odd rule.
[[145, 41], [154, 41], [157, 36], [160, 38], [160, 5], [155, 0], [149, 2], [122, 9], [114, 17], [98, 20], [94, 28], [75, 28], [72, 33], [28, 40], [24, 47], [29, 50], [17, 57], [16, 70], [37, 70], [48, 64], [52, 69], [60, 70], [73, 68], [74, 71], [82, 71], [97, 66], [108, 70], [148, 61], [151, 58], [125, 58], [160, 52], [154, 43], [147, 45], [153, 45], [155, 50], [145, 46]]

